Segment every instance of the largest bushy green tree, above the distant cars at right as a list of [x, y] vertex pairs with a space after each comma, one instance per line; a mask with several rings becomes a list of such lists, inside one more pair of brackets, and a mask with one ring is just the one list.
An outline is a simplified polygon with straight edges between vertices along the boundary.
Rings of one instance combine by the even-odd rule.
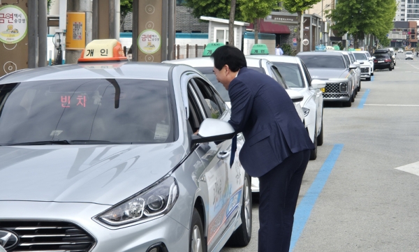
[[393, 27], [396, 10], [395, 0], [340, 0], [335, 10], [326, 13], [326, 17], [335, 23], [331, 28], [337, 31], [337, 35], [348, 33], [353, 36], [356, 48], [358, 40], [369, 35], [388, 43], [386, 34]]

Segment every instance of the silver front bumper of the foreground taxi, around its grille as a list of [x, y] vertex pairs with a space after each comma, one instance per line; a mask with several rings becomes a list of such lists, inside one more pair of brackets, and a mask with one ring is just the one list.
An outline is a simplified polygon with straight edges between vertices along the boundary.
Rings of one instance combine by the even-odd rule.
[[[183, 225], [166, 215], [138, 225], [132, 225], [126, 228], [111, 230], [105, 226], [96, 223], [93, 216], [99, 214], [109, 205], [96, 205], [91, 203], [74, 202], [24, 202], [24, 201], [2, 201], [0, 202], [0, 224], [1, 221], [39, 221], [54, 222], [61, 221], [73, 223], [84, 230], [87, 236], [92, 238], [94, 244], [89, 251], [112, 251], [112, 252], [146, 252], [150, 246], [163, 243], [169, 252], [188, 251], [189, 230]], [[64, 238], [63, 238], [64, 239]], [[67, 238], [68, 240], [68, 238]], [[31, 242], [31, 248], [37, 248], [36, 239]], [[21, 239], [22, 243], [24, 242]], [[56, 242], [57, 241], [52, 241]], [[64, 244], [66, 241], [59, 241]], [[45, 240], [43, 241], [45, 242]], [[22, 244], [22, 247], [27, 245]], [[41, 246], [39, 246], [41, 248]], [[17, 247], [17, 250], [21, 250]], [[38, 251], [50, 251], [45, 249]], [[51, 249], [52, 250], [52, 249]], [[71, 251], [69, 249], [61, 249]], [[36, 251], [32, 249], [31, 251]]]

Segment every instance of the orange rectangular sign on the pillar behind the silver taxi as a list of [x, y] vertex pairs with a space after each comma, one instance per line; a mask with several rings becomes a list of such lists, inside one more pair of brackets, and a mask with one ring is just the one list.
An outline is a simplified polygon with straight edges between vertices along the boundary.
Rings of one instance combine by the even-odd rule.
[[67, 13], [66, 50], [83, 50], [86, 46], [86, 14]]

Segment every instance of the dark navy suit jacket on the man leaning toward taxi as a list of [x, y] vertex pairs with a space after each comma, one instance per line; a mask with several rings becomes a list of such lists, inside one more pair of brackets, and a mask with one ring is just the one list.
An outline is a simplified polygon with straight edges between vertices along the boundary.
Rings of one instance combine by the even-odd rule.
[[244, 135], [239, 159], [250, 176], [260, 177], [291, 154], [314, 149], [293, 101], [272, 77], [241, 68], [228, 95], [228, 122]]

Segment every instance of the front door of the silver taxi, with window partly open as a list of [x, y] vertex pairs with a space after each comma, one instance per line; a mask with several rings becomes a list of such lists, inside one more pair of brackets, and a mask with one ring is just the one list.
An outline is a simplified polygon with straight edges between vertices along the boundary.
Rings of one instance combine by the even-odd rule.
[[[230, 110], [226, 103], [219, 97], [211, 84], [200, 77], [194, 77], [189, 83], [189, 96], [193, 98], [193, 110], [202, 119], [212, 118], [228, 121]], [[192, 114], [192, 113], [191, 113]], [[205, 181], [207, 188], [207, 247], [212, 248], [223, 237], [223, 233], [234, 216], [240, 210], [241, 188], [244, 179], [238, 151], [240, 151], [243, 138], [237, 141], [236, 158], [233, 167], [230, 168], [230, 152], [232, 140], [223, 142], [206, 142], [200, 144], [196, 154], [205, 166]]]

